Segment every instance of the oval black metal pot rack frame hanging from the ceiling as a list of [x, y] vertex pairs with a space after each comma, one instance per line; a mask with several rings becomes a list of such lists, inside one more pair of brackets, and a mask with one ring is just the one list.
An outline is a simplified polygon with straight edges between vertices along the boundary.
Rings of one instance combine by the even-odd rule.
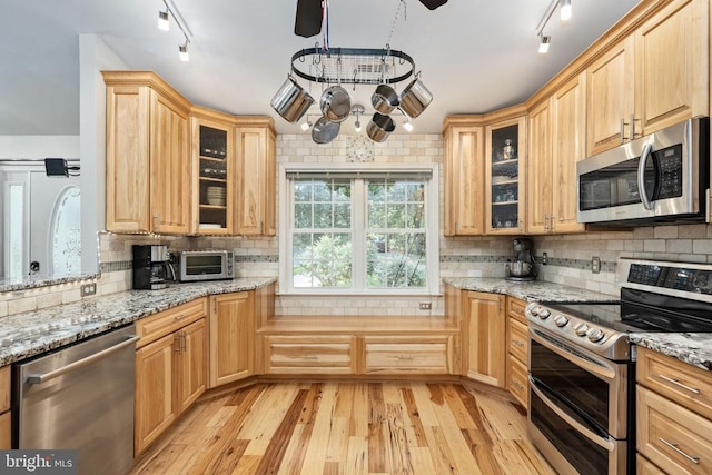
[[328, 48], [317, 46], [291, 57], [291, 72], [312, 82], [379, 85], [415, 76], [413, 58], [387, 44], [385, 49]]

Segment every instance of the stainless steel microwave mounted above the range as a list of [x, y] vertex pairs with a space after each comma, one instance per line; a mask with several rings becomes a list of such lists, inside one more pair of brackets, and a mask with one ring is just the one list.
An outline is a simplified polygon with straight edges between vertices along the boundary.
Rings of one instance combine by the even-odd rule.
[[710, 119], [685, 120], [576, 164], [578, 222], [710, 221]]

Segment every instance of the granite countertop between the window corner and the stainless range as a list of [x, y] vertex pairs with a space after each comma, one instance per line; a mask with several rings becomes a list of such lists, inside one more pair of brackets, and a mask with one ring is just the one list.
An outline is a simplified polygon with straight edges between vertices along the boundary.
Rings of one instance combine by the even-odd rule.
[[617, 301], [617, 296], [601, 294], [578, 287], [561, 284], [531, 281], [511, 281], [503, 278], [445, 278], [446, 284], [463, 290], [505, 294], [525, 301]]

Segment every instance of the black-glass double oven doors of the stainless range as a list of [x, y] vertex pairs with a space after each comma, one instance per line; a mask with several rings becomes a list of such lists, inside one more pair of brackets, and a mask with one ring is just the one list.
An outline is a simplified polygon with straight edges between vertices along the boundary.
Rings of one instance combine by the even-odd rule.
[[627, 377], [629, 363], [602, 358], [530, 324], [528, 429], [553, 465], [582, 474], [625, 473]]

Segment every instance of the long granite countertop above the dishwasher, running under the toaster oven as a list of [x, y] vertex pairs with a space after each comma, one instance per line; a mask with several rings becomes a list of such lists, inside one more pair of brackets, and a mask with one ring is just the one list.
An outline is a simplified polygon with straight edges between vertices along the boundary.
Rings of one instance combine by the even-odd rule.
[[128, 325], [196, 298], [253, 290], [275, 280], [265, 277], [175, 284], [161, 290], [128, 290], [10, 315], [0, 320], [0, 366]]

